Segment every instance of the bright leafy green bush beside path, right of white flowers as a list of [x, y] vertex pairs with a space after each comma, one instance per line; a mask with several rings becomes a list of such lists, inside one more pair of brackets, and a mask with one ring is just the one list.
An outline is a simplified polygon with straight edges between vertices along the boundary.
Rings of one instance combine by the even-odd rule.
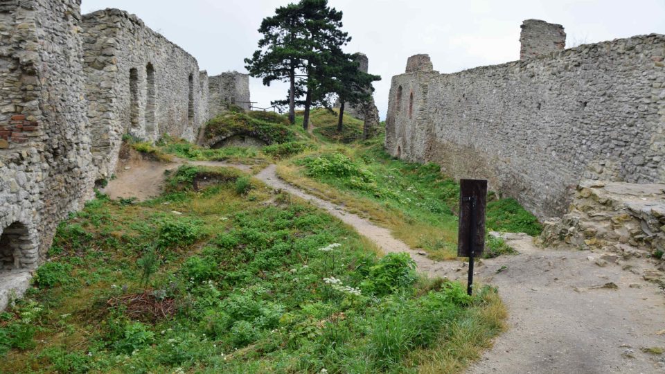
[[412, 285], [416, 278], [416, 262], [409, 253], [388, 253], [369, 268], [361, 287], [366, 292], [382, 296]]

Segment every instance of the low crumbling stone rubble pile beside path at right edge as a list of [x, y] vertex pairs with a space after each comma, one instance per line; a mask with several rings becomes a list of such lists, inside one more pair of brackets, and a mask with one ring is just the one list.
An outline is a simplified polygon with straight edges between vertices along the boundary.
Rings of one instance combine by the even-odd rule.
[[540, 242], [653, 258], [665, 270], [665, 184], [583, 181], [569, 212], [544, 222]]

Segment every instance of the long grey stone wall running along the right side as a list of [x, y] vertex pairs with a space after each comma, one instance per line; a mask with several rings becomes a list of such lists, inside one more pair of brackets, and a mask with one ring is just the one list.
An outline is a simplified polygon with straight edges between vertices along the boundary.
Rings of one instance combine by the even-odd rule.
[[665, 180], [664, 55], [665, 36], [646, 35], [452, 74], [425, 64], [393, 77], [385, 146], [561, 215], [582, 178]]

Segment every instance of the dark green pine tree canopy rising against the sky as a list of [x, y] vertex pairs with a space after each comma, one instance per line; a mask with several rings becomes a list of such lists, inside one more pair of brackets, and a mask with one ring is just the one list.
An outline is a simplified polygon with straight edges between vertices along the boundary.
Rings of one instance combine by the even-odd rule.
[[263, 84], [290, 82], [287, 100], [274, 104], [286, 101], [294, 123], [296, 104], [301, 103], [305, 130], [312, 105], [329, 107], [332, 94], [342, 103], [364, 102], [371, 97], [371, 82], [380, 79], [360, 71], [353, 55], [342, 51], [351, 41], [342, 26], [342, 12], [330, 8], [328, 0], [301, 0], [279, 7], [261, 22], [259, 49], [245, 59], [249, 74], [263, 78]]

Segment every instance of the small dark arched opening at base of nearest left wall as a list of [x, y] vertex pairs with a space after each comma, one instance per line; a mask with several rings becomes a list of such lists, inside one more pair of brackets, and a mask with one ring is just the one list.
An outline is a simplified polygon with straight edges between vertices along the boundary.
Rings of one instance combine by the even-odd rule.
[[34, 265], [36, 260], [36, 248], [26, 225], [14, 222], [1, 231], [0, 271], [25, 268]]

